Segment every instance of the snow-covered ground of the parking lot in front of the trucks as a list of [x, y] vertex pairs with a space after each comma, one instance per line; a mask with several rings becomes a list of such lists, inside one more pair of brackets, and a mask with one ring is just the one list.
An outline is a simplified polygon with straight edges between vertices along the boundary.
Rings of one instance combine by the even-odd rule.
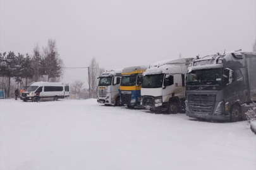
[[0, 99], [0, 169], [256, 169], [245, 122], [102, 106], [95, 99]]

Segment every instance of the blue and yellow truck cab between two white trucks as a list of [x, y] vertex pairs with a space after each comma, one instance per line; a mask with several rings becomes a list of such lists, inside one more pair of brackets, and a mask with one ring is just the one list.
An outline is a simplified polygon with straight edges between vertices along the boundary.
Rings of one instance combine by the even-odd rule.
[[147, 66], [133, 66], [123, 69], [120, 84], [120, 103], [128, 108], [140, 106], [140, 89], [142, 87], [142, 73]]

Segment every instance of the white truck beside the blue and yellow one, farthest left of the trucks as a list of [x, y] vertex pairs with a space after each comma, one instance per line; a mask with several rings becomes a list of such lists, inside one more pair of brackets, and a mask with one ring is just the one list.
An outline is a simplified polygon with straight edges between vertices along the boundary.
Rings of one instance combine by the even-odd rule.
[[99, 76], [97, 87], [97, 102], [104, 105], [118, 106], [120, 103], [119, 88], [121, 82], [121, 73], [123, 69], [115, 69], [102, 72]]

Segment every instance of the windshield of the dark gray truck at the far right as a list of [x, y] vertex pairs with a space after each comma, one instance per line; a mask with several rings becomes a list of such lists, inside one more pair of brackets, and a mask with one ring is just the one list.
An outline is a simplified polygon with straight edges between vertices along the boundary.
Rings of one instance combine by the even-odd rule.
[[222, 68], [220, 69], [205, 69], [205, 70], [195, 70], [189, 72], [186, 75], [186, 85], [215, 85], [222, 84], [222, 79], [224, 76], [222, 75]]

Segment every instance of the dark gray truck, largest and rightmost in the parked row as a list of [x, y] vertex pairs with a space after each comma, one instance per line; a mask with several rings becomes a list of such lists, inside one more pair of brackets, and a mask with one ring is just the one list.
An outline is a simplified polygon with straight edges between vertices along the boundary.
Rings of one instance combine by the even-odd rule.
[[186, 115], [208, 120], [246, 119], [256, 101], [256, 53], [229, 52], [193, 60], [186, 74]]

